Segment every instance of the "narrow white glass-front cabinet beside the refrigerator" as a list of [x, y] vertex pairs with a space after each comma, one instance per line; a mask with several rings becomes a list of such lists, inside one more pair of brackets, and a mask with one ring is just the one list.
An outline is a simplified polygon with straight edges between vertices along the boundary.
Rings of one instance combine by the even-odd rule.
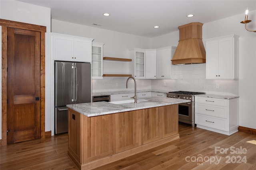
[[103, 79], [103, 45], [92, 42], [92, 79]]

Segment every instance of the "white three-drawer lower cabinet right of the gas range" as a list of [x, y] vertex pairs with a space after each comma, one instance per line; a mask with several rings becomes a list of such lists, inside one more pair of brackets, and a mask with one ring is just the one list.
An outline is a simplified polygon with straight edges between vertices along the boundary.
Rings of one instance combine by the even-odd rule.
[[195, 123], [202, 129], [231, 135], [238, 131], [238, 98], [195, 97]]

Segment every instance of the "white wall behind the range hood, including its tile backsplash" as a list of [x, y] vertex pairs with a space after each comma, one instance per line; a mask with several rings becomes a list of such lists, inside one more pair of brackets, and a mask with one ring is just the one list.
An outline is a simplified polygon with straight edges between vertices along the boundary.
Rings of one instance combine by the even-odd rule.
[[[252, 23], [249, 23], [248, 27], [255, 30], [256, 11], [251, 11], [249, 18]], [[240, 36], [239, 80], [205, 80], [205, 64], [182, 65], [178, 67], [178, 70], [183, 79], [152, 80], [152, 89], [192, 90], [208, 94], [238, 95], [240, 96], [239, 125], [256, 129], [256, 33], [246, 31], [244, 25], [240, 23], [242, 20], [244, 20], [244, 14], [204, 23], [202, 30], [203, 40], [230, 34]], [[163, 44], [176, 46], [178, 45], [178, 31], [154, 37], [151, 39], [151, 43], [152, 48]], [[216, 84], [219, 84], [219, 88], [216, 88]]]

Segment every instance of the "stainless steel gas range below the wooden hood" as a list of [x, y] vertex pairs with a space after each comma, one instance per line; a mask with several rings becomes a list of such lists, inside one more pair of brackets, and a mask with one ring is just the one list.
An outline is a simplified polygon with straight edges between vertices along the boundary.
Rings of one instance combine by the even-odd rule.
[[205, 94], [204, 92], [176, 91], [167, 93], [168, 98], [186, 99], [191, 102], [179, 104], [179, 121], [189, 123], [195, 127], [195, 95]]

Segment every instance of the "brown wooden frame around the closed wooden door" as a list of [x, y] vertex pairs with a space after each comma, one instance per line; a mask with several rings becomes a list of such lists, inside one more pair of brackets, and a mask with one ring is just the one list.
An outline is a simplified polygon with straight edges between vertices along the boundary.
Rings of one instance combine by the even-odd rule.
[[0, 146], [7, 145], [7, 28], [19, 28], [39, 31], [41, 34], [40, 50], [40, 138], [45, 138], [45, 33], [46, 27], [29, 23], [0, 19], [2, 26], [2, 141]]

